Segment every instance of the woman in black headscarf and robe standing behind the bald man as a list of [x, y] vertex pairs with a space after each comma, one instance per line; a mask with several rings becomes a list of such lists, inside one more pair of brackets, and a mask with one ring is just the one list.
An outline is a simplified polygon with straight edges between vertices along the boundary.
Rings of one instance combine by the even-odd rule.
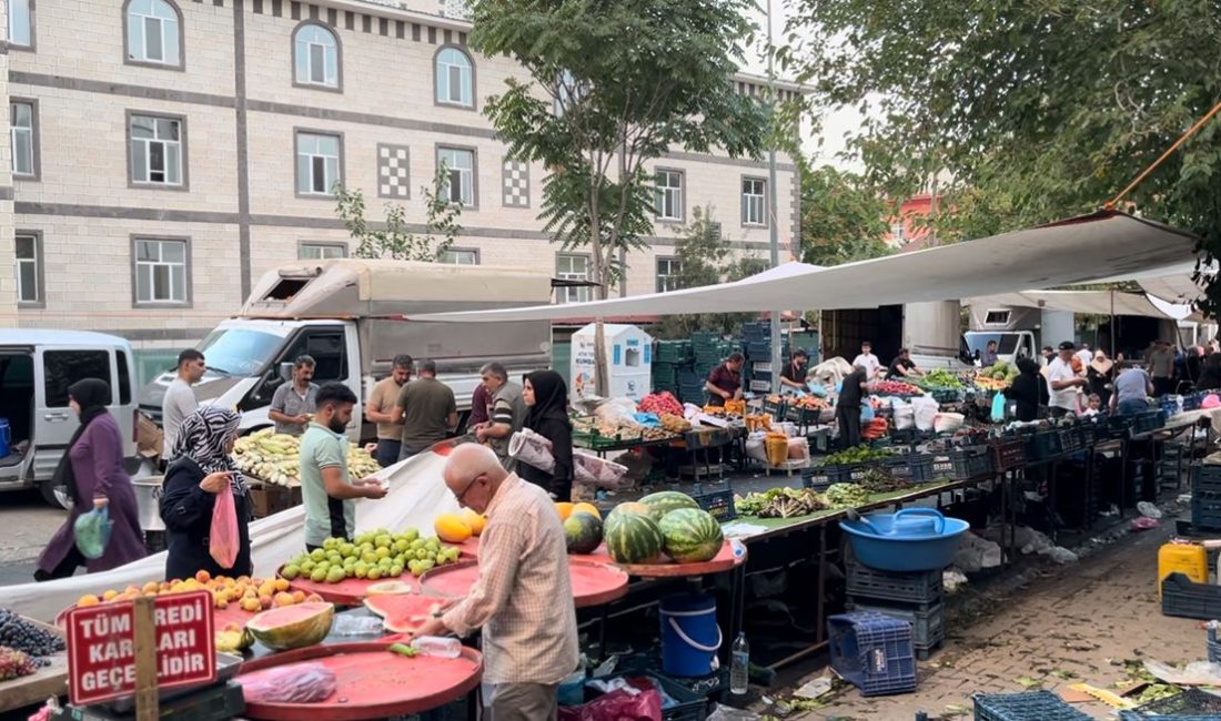
[[534, 466], [520, 464], [526, 481], [541, 486], [552, 499], [573, 498], [573, 422], [568, 418], [568, 387], [556, 371], [535, 371], [526, 376], [521, 398], [530, 409], [525, 427], [551, 440], [556, 467], [548, 475]]

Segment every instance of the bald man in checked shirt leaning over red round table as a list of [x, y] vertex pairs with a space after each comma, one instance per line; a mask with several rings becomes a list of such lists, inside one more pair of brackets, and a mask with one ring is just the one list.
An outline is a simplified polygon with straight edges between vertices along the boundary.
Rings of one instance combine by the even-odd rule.
[[559, 682], [576, 670], [576, 610], [564, 527], [541, 487], [505, 471], [492, 449], [453, 449], [446, 486], [458, 503], [487, 515], [479, 538], [479, 579], [466, 598], [415, 634], [484, 630], [484, 682], [492, 721], [556, 717]]

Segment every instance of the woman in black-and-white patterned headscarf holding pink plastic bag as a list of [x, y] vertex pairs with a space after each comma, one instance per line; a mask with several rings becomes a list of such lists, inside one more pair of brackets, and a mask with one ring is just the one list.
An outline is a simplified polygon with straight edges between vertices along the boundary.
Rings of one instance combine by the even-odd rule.
[[[230, 455], [239, 421], [236, 412], [216, 406], [204, 406], [182, 421], [161, 490], [161, 520], [170, 542], [166, 579], [192, 578], [199, 571], [231, 578], [252, 572], [250, 497]], [[221, 567], [208, 550], [212, 508], [225, 487], [233, 489], [237, 509], [239, 543], [232, 569]]]

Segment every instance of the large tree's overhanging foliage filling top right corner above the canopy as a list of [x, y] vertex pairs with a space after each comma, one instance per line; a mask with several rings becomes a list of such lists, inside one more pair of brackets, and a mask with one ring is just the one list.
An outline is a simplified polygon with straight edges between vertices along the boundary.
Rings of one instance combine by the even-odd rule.
[[[867, 118], [850, 148], [893, 198], [947, 172], [945, 234], [1098, 210], [1221, 99], [1210, 0], [795, 0], [780, 67], [816, 116]], [[1221, 250], [1221, 120], [1125, 200]], [[1132, 206], [1123, 205], [1122, 209]], [[1221, 284], [1209, 289], [1209, 307]]]

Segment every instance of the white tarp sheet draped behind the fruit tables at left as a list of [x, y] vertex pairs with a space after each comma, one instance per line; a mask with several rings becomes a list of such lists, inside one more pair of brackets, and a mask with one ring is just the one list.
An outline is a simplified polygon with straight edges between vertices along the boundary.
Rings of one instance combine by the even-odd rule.
[[[446, 459], [422, 453], [377, 473], [389, 479], [389, 492], [380, 500], [357, 500], [357, 529], [419, 528], [432, 533], [432, 521], [459, 510], [441, 471]], [[305, 550], [305, 510], [288, 509], [250, 523], [250, 553], [256, 576], [275, 576], [281, 564]], [[46, 621], [87, 593], [143, 586], [165, 578], [165, 551], [103, 573], [78, 575], [46, 583], [0, 587], [0, 606]]]

